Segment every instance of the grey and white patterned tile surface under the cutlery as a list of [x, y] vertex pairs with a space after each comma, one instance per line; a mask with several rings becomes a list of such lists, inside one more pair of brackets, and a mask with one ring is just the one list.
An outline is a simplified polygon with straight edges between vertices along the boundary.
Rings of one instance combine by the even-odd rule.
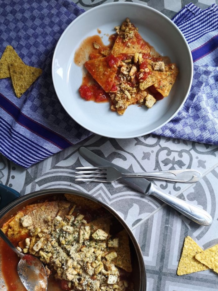
[[[79, 6], [89, 9], [110, 0], [79, 0]], [[150, 0], [144, 3], [168, 17], [187, 4], [186, 0]], [[201, 8], [215, 1], [192, 1]], [[132, 171], [154, 171], [194, 168], [203, 177], [196, 184], [154, 183], [166, 193], [204, 208], [213, 217], [209, 227], [190, 222], [177, 211], [152, 196], [134, 191], [119, 181], [113, 183], [83, 183], [74, 181], [75, 167], [88, 165], [78, 154], [86, 146], [105, 159]], [[93, 135], [76, 146], [23, 169], [0, 156], [0, 183], [15, 188], [21, 195], [45, 188], [67, 188], [84, 191], [111, 207], [126, 220], [143, 252], [147, 291], [215, 291], [218, 277], [213, 271], [177, 276], [176, 270], [185, 236], [189, 235], [202, 247], [218, 243], [218, 147], [191, 141], [152, 135], [116, 140]]]

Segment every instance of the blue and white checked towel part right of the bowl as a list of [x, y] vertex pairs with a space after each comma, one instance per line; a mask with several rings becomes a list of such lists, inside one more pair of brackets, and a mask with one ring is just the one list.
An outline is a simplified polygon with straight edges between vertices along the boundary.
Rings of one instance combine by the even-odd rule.
[[191, 49], [194, 76], [183, 107], [154, 134], [218, 145], [218, 6], [190, 3], [172, 20]]

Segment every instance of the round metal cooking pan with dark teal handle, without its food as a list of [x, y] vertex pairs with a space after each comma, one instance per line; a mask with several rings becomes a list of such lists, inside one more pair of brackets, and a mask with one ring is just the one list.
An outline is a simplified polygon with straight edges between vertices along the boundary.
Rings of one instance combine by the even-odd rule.
[[[0, 210], [0, 227], [7, 222], [7, 220], [15, 215], [19, 210], [25, 207], [28, 204], [36, 203], [38, 200], [43, 200], [54, 195], [62, 195], [64, 198], [64, 193], [69, 193], [72, 195], [82, 196], [89, 200], [92, 200], [102, 207], [106, 208], [117, 220], [118, 224], [121, 224], [127, 231], [130, 237], [130, 250], [131, 250], [131, 257], [132, 257], [132, 268], [133, 268], [133, 278], [135, 284], [135, 291], [145, 291], [146, 290], [146, 274], [145, 274], [145, 265], [143, 260], [143, 255], [140, 250], [140, 246], [135, 239], [134, 234], [132, 233], [131, 229], [128, 227], [126, 222], [116, 213], [114, 209], [112, 209], [107, 204], [103, 203], [99, 199], [88, 195], [83, 192], [79, 192], [76, 190], [68, 190], [68, 189], [47, 189], [47, 190], [40, 190], [25, 196], [19, 197], [19, 193], [13, 189], [10, 189], [6, 186], [0, 184], [0, 196], [1, 196], [1, 203], [0, 208], [2, 205], [6, 205], [9, 203], [9, 200], [12, 201], [11, 203], [7, 204], [2, 210]], [[14, 200], [15, 199], [15, 200]], [[65, 198], [64, 198], [65, 199]], [[0, 286], [4, 285], [4, 280], [2, 278], [1, 272], [1, 256], [0, 256]], [[2, 291], [6, 291], [7, 288], [3, 287]], [[49, 291], [49, 290], [48, 290]]]

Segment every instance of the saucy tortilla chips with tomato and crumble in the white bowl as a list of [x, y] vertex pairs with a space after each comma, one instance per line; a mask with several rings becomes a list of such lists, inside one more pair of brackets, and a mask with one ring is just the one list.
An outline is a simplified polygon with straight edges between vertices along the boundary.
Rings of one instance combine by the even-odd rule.
[[97, 102], [108, 99], [111, 110], [119, 115], [130, 104], [151, 108], [168, 96], [179, 70], [142, 39], [128, 18], [115, 29], [110, 48], [93, 42], [96, 53], [84, 64], [92, 80], [83, 82], [80, 96]]

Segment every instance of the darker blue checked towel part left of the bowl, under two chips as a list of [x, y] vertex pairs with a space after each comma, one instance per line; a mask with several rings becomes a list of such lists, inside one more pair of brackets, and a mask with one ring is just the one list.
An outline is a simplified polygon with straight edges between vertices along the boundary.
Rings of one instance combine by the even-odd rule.
[[92, 134], [65, 112], [51, 75], [57, 41], [83, 12], [70, 0], [0, 1], [0, 57], [12, 45], [25, 64], [43, 70], [21, 98], [11, 78], [0, 79], [0, 152], [25, 168]]

